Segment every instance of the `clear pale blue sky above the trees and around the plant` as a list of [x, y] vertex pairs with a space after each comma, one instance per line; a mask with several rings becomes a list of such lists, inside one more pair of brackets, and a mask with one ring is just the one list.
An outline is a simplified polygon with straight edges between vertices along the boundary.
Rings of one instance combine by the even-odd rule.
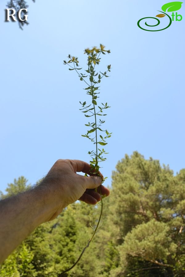
[[133, 151], [169, 164], [175, 174], [185, 167], [185, 4], [182, 21], [147, 32], [138, 20], [155, 17], [167, 2], [28, 0], [23, 31], [4, 22], [6, 3], [0, 3], [0, 190], [21, 175], [35, 184], [57, 159], [89, 161], [93, 146], [81, 137], [87, 119], [79, 111], [89, 96], [63, 60], [78, 56], [86, 69], [83, 50], [99, 43], [111, 53], [98, 70], [112, 67], [100, 87], [101, 102], [111, 106], [105, 127], [113, 132], [102, 163], [105, 185], [118, 160]]

